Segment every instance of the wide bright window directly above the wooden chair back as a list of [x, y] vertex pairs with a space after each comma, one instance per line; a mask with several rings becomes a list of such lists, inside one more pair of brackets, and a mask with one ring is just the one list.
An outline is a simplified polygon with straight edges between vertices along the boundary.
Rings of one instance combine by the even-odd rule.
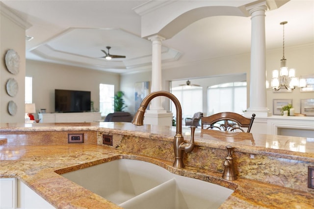
[[208, 87], [208, 114], [246, 110], [246, 82], [223, 83]]

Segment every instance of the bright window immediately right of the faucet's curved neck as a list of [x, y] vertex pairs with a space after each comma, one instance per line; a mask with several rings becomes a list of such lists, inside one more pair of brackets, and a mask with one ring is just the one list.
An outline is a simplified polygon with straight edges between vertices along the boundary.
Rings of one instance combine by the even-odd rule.
[[[171, 89], [182, 107], [182, 118], [192, 118], [194, 113], [203, 111], [203, 88], [199, 86], [178, 86]], [[171, 111], [176, 115], [176, 107], [171, 101]]]

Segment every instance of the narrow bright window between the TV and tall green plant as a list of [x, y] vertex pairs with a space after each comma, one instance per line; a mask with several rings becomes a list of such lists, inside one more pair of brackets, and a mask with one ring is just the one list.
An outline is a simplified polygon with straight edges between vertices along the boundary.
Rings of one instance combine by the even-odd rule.
[[99, 84], [99, 109], [102, 116], [113, 112], [114, 85]]

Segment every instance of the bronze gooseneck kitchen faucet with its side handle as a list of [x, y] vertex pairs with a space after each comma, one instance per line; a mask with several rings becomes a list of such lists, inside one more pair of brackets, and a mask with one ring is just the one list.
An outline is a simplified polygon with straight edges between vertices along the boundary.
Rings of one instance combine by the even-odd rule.
[[[168, 97], [176, 106], [177, 110], [177, 127], [176, 127], [176, 135], [174, 136], [174, 141], [173, 141], [173, 148], [175, 152], [175, 162], [173, 164], [174, 167], [177, 168], [183, 168], [184, 163], [183, 163], [183, 152], [185, 151], [186, 153], [191, 152], [194, 148], [194, 131], [191, 130], [193, 134], [193, 142], [184, 143], [184, 138], [182, 135], [182, 108], [179, 100], [171, 93], [167, 91], [155, 91], [147, 95], [142, 103], [140, 104], [137, 112], [135, 113], [132, 124], [136, 126], [142, 126], [144, 125], [144, 114], [145, 110], [148, 106], [148, 104], [154, 99], [155, 97], [158, 96], [165, 96]], [[195, 130], [195, 129], [194, 129]], [[183, 148], [184, 147], [184, 148]]]

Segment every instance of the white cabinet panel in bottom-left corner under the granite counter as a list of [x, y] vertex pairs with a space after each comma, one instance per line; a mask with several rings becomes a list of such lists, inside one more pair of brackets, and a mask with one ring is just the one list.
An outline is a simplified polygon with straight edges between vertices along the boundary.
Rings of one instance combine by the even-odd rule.
[[0, 209], [16, 209], [17, 183], [15, 178], [0, 179]]

